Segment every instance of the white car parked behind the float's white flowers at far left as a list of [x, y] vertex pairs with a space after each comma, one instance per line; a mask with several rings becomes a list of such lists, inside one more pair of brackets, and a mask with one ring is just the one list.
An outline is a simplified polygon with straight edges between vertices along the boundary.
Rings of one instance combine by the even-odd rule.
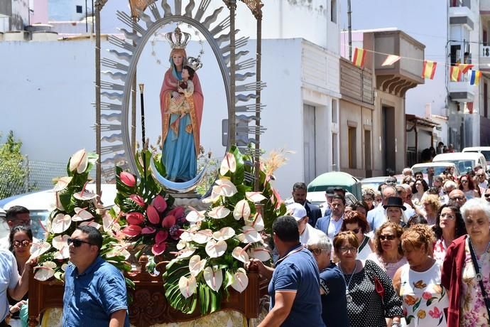
[[[110, 208], [114, 205], [114, 198], [116, 198], [116, 185], [115, 184], [102, 184], [102, 203], [104, 207]], [[95, 192], [95, 184], [87, 185], [87, 190]], [[22, 205], [31, 212], [31, 228], [33, 230], [34, 237], [43, 240], [44, 229], [41, 226], [46, 224], [48, 217], [55, 205], [55, 192], [53, 190], [38, 191], [32, 193], [24, 193], [11, 196], [10, 198], [4, 198], [0, 200], [0, 208], [9, 210], [14, 205]], [[9, 225], [5, 220], [0, 222], [0, 237], [5, 237], [9, 234]]]

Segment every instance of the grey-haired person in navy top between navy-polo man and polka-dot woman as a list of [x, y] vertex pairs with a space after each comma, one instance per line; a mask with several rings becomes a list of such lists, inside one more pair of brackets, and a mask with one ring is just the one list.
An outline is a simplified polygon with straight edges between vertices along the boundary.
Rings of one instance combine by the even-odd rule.
[[320, 297], [325, 326], [349, 326], [344, 275], [337, 264], [330, 260], [332, 252], [330, 238], [319, 231], [308, 240], [307, 249], [317, 260], [318, 270], [320, 270]]

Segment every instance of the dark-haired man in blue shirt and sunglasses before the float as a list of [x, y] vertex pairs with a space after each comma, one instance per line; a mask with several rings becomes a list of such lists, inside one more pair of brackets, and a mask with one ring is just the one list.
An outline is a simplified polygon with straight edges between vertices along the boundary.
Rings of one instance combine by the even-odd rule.
[[99, 256], [99, 230], [79, 226], [67, 242], [71, 264], [65, 271], [62, 326], [129, 327], [126, 281]]

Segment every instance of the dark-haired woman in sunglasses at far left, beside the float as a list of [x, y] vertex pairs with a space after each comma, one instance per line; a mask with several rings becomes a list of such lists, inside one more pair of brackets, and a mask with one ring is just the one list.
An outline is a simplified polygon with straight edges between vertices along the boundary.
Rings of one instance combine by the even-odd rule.
[[[22, 274], [24, 267], [26, 267], [26, 262], [29, 257], [31, 257], [31, 245], [33, 242], [33, 232], [31, 227], [24, 225], [13, 227], [9, 235], [9, 241], [9, 250], [16, 258], [18, 274]], [[12, 325], [16, 324], [20, 326], [19, 311], [23, 305], [27, 304], [27, 297], [28, 294], [23, 296], [21, 301], [16, 301], [8, 296], [11, 319], [13, 319], [13, 321], [11, 321]]]

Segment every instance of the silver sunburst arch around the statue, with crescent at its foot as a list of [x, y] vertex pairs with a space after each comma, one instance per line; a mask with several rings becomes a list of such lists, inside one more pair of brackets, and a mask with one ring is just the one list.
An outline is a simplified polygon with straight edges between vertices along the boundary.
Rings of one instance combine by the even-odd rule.
[[[99, 159], [97, 176], [102, 176], [102, 174], [104, 176], [114, 176], [115, 164], [138, 174], [136, 161], [132, 155], [128, 128], [131, 85], [135, 84], [136, 66], [148, 39], [162, 26], [178, 22], [190, 24], [205, 37], [219, 65], [226, 91], [229, 117], [227, 149], [232, 144], [245, 147], [253, 143], [256, 164], [258, 164], [260, 134], [264, 130], [260, 125], [260, 112], [264, 107], [260, 103], [260, 92], [265, 87], [265, 83], [259, 79], [262, 4], [259, 0], [242, 1], [251, 9], [252, 14], [257, 19], [258, 42], [257, 57], [243, 60], [240, 63], [236, 63], [236, 60], [241, 57], [246, 57], [249, 51], [241, 50], [236, 52], [236, 49], [244, 47], [248, 41], [246, 37], [241, 37], [238, 40], [235, 38], [238, 32], [235, 29], [236, 0], [224, 0], [224, 4], [229, 9], [229, 15], [224, 16], [224, 18], [219, 20], [219, 23], [216, 22], [222, 16], [224, 7], [219, 7], [207, 13], [211, 0], [201, 0], [198, 6], [196, 6], [194, 0], [175, 0], [173, 1], [173, 9], [167, 0], [131, 0], [132, 17], [124, 12], [117, 12], [119, 20], [126, 24], [130, 31], [121, 28], [121, 32], [124, 33], [126, 41], [122, 41], [115, 36], [109, 36], [109, 43], [116, 45], [119, 49], [109, 50], [111, 58], [103, 58], [99, 63], [96, 63], [96, 65], [102, 63], [102, 65], [111, 68], [111, 71], [104, 72], [104, 75], [107, 75], [112, 80], [120, 81], [109, 82], [96, 80], [96, 91], [99, 93], [96, 96], [97, 119], [99, 119], [96, 123], [96, 130], [98, 129], [97, 151], [99, 151], [99, 158], [105, 156], [105, 158]], [[160, 4], [157, 5], [157, 2], [160, 2]], [[183, 4], [184, 2], [187, 4]], [[104, 6], [104, 3], [105, 1], [97, 1], [97, 4], [102, 4], [102, 6]], [[102, 9], [102, 6], [96, 6], [96, 15], [99, 14], [98, 11]], [[134, 19], [135, 14], [138, 15], [139, 22]], [[99, 22], [97, 21], [97, 23]], [[97, 38], [99, 38], [99, 28], [97, 28], [97, 32]], [[132, 43], [128, 41], [132, 41]], [[96, 47], [96, 53], [97, 50], [99, 48]], [[256, 67], [256, 72], [250, 71], [254, 67]], [[98, 71], [100, 72], [100, 70]], [[246, 81], [254, 76], [256, 77], [254, 82]], [[237, 85], [237, 82], [245, 83]], [[100, 92], [101, 89], [104, 89], [104, 91]], [[102, 102], [100, 99], [101, 96], [111, 101]], [[111, 113], [101, 114], [101, 109], [104, 112]], [[237, 115], [237, 112], [241, 114]], [[253, 113], [253, 115], [247, 115], [250, 113]], [[114, 116], [119, 117], [120, 124], [112, 123]], [[103, 124], [102, 121], [104, 120], [107, 123]], [[236, 136], [237, 121], [241, 122], [241, 125], [243, 125], [243, 122], [247, 124], [247, 127], [241, 127], [239, 138]], [[248, 126], [249, 122], [252, 121], [255, 122], [254, 126]], [[110, 132], [111, 134], [102, 136], [102, 132]], [[247, 135], [245, 138], [244, 134]], [[108, 144], [102, 146], [102, 141]], [[124, 152], [121, 153], [121, 150]], [[156, 169], [153, 160], [150, 163], [150, 169], [156, 180], [172, 193], [187, 193], [192, 191], [200, 183], [205, 174], [204, 168], [200, 173], [188, 178], [187, 181], [170, 181], [166, 176], [161, 176], [158, 173], [158, 169]], [[97, 183], [100, 183], [100, 178], [97, 178]]]

